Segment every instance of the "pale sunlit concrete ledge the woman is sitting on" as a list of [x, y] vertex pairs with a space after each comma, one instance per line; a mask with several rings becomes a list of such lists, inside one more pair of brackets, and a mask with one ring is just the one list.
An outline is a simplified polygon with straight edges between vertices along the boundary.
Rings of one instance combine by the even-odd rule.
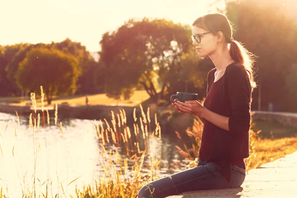
[[167, 198], [297, 198], [297, 151], [247, 172], [240, 188], [192, 191]]

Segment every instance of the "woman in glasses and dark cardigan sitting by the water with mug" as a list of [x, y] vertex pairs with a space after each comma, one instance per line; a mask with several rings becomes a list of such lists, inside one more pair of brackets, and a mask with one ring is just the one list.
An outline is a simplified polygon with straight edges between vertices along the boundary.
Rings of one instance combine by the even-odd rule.
[[[144, 186], [139, 198], [165, 198], [187, 191], [240, 187], [246, 177], [244, 158], [249, 156], [251, 92], [255, 88], [251, 53], [232, 37], [224, 14], [207, 14], [192, 25], [193, 45], [200, 57], [215, 65], [207, 75], [203, 105], [197, 100], [174, 101], [179, 113], [198, 116], [203, 122], [199, 162], [191, 168]], [[146, 190], [147, 189], [147, 190]]]

